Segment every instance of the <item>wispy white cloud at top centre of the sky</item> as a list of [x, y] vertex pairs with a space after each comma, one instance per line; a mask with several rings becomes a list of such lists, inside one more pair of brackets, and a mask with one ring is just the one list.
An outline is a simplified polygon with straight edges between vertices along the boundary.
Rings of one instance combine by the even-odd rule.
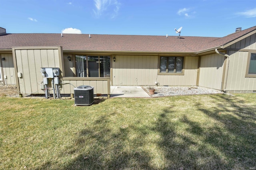
[[118, 0], [94, 0], [94, 3], [96, 9], [93, 10], [93, 12], [96, 17], [100, 17], [104, 14], [115, 18], [120, 8]]

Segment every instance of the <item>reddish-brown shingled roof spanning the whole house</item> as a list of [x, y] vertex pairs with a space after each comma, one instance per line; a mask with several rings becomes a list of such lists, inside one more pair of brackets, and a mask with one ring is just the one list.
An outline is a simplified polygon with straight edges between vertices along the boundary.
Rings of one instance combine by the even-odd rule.
[[197, 53], [228, 44], [252, 31], [256, 26], [225, 37], [95, 35], [56, 33], [8, 33], [0, 36], [0, 50], [27, 46], [62, 46], [65, 50], [134, 51]]

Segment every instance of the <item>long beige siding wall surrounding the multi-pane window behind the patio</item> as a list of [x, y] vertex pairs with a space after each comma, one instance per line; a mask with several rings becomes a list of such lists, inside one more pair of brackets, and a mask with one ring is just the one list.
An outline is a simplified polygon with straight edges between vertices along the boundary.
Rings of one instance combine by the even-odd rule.
[[198, 57], [185, 57], [184, 75], [158, 75], [158, 56], [116, 55], [113, 85], [195, 86]]

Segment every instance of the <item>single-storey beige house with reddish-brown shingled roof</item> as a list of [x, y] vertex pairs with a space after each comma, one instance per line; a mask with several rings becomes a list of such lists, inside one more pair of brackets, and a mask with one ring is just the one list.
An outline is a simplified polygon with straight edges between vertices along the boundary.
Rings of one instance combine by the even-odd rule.
[[[225, 37], [6, 33], [0, 27], [0, 84], [22, 94], [60, 94], [94, 86], [202, 86], [224, 92], [256, 92], [256, 26]], [[54, 74], [55, 75], [55, 74]], [[42, 86], [42, 84], [46, 86]], [[57, 86], [56, 86], [57, 87]]]

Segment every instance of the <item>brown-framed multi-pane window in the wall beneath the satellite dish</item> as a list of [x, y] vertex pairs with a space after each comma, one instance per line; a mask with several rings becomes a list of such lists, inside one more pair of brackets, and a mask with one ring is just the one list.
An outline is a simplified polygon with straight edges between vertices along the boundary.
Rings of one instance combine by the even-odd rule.
[[184, 57], [160, 57], [159, 73], [183, 74]]

